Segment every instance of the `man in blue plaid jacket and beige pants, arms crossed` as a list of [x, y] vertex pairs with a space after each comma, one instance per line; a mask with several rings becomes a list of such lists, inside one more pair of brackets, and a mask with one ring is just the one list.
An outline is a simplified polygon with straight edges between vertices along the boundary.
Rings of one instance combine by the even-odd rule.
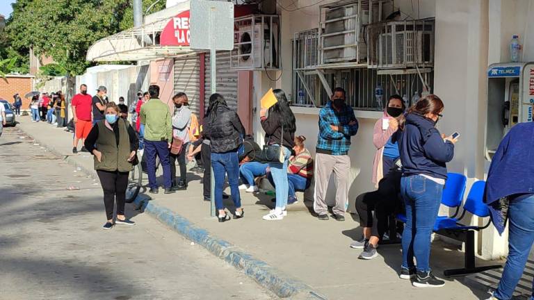
[[316, 147], [316, 175], [314, 210], [318, 219], [328, 219], [325, 197], [330, 175], [336, 176], [336, 206], [334, 219], [345, 221], [348, 201], [348, 174], [350, 174], [350, 138], [358, 131], [358, 122], [352, 107], [345, 103], [346, 92], [335, 88], [331, 101], [319, 112], [319, 134]]

